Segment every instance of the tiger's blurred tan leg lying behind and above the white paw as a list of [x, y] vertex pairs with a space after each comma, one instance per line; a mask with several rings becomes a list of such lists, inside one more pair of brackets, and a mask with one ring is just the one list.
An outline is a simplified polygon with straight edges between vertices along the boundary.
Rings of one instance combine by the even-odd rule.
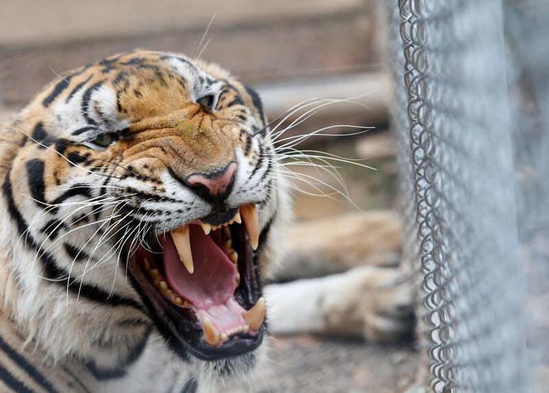
[[346, 272], [353, 267], [397, 266], [401, 219], [393, 211], [369, 211], [314, 219], [290, 226], [285, 257], [276, 274], [283, 281]]

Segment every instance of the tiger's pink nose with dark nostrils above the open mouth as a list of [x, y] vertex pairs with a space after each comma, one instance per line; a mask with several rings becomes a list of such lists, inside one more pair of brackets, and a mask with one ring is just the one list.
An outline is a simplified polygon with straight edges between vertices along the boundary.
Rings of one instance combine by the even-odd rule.
[[231, 161], [220, 171], [206, 174], [191, 174], [185, 184], [198, 196], [214, 204], [223, 204], [233, 190], [237, 163]]

